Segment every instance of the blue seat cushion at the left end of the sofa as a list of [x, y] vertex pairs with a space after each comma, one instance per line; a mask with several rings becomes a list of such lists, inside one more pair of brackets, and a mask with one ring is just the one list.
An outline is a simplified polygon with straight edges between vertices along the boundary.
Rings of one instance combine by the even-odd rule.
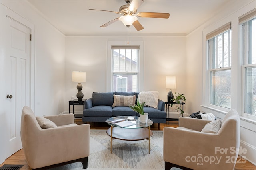
[[85, 117], [112, 117], [112, 106], [94, 106], [89, 109], [84, 109]]

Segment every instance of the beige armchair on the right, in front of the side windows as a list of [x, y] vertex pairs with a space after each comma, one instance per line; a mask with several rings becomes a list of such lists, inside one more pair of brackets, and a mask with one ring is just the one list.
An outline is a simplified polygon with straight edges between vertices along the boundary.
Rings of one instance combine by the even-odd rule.
[[[220, 125], [217, 133], [201, 132], [209, 125], [216, 128], [216, 122]], [[240, 119], [236, 110], [215, 122], [180, 117], [179, 127], [164, 127], [165, 170], [233, 170], [239, 146]]]

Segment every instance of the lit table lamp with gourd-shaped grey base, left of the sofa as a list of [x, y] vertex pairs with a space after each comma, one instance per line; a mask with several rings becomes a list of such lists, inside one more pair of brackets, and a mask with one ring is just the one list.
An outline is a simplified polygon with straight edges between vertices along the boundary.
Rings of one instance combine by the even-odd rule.
[[72, 72], [72, 82], [78, 82], [76, 88], [78, 90], [76, 97], [79, 101], [82, 101], [82, 98], [84, 97], [84, 94], [82, 93], [82, 84], [81, 82], [86, 82], [86, 72], [82, 71], [73, 71]]

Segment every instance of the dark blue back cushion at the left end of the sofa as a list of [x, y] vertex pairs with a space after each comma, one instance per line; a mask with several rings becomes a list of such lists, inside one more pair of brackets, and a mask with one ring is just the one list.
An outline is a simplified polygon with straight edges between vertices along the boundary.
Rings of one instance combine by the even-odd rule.
[[113, 98], [113, 92], [106, 92], [106, 93], [92, 93], [92, 104], [93, 106], [98, 105], [106, 105], [106, 106], [112, 106], [114, 102]]

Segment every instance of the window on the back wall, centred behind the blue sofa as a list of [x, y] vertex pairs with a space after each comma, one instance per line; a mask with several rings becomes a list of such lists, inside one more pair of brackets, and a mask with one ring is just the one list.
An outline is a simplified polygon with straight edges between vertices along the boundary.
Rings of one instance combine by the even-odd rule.
[[139, 46], [111, 46], [112, 91], [137, 92]]

